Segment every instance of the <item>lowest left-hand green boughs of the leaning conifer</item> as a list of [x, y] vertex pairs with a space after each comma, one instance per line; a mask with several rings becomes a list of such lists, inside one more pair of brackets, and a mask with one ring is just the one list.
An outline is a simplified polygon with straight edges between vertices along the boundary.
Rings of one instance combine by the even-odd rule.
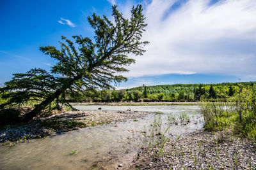
[[6, 100], [1, 104], [0, 109], [6, 106], [42, 102], [52, 94], [52, 90], [58, 89], [60, 79], [43, 69], [31, 69], [26, 73], [13, 74], [12, 80], [6, 82], [0, 89], [1, 98]]

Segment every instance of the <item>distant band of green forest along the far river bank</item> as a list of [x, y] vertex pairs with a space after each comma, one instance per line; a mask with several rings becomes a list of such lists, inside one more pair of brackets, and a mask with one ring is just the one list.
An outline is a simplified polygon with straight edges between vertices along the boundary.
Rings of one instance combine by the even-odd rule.
[[69, 96], [76, 102], [120, 102], [120, 101], [200, 101], [222, 99], [227, 101], [244, 87], [252, 88], [255, 81], [216, 84], [175, 84], [134, 87], [123, 90], [84, 91], [84, 95]]

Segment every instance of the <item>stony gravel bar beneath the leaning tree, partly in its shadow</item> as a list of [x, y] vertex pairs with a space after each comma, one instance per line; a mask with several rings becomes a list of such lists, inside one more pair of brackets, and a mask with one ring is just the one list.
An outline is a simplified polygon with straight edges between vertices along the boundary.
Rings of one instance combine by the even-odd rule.
[[2, 127], [0, 129], [0, 146], [29, 143], [33, 138], [45, 138], [79, 128], [122, 122], [147, 114], [148, 112], [141, 111], [68, 111], [40, 118], [28, 124]]

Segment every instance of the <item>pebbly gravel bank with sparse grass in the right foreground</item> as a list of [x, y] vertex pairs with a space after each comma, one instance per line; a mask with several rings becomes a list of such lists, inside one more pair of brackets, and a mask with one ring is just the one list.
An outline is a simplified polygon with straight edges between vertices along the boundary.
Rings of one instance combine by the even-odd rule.
[[231, 131], [196, 131], [153, 150], [141, 150], [127, 169], [256, 169], [255, 142]]

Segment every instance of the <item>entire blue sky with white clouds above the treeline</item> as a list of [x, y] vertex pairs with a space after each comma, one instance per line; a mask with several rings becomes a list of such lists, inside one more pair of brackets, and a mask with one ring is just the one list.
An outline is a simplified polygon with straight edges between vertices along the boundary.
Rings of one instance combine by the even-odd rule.
[[[173, 83], [256, 79], [255, 0], [0, 1], [0, 85], [33, 67], [50, 70], [39, 46], [58, 46], [61, 36], [93, 37], [87, 17], [111, 17], [111, 5], [129, 16], [143, 4], [150, 41], [145, 55], [125, 73], [118, 89]], [[134, 56], [131, 56], [134, 57]]]

